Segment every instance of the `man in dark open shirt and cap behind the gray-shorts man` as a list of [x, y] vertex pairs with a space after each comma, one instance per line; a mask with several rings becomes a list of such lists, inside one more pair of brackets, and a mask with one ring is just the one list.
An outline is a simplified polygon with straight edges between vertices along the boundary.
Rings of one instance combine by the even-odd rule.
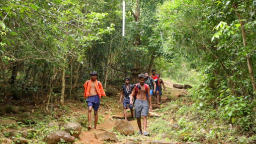
[[133, 105], [130, 104], [130, 94], [132, 93], [132, 85], [129, 84], [131, 79], [129, 77], [124, 78], [125, 84], [122, 86], [122, 91], [121, 91], [121, 97], [119, 100], [119, 103], [121, 104], [122, 102], [122, 97], [124, 95], [124, 100], [123, 100], [123, 107], [124, 107], [124, 120], [127, 121], [127, 116], [126, 116], [126, 109], [127, 105], [131, 110], [132, 113], [132, 119], [133, 119]]

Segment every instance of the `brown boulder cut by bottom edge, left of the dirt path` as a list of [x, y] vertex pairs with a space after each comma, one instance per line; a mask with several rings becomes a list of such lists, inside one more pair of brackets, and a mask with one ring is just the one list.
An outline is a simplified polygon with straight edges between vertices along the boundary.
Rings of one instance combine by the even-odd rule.
[[57, 144], [58, 142], [62, 142], [62, 140], [66, 143], [74, 143], [75, 137], [65, 131], [54, 131], [49, 133], [46, 137], [47, 144]]

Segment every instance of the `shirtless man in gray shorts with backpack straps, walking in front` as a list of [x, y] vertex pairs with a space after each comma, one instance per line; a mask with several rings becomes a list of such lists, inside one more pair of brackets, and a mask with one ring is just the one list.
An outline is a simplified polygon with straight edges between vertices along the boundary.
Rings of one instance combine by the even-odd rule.
[[[144, 84], [145, 82], [145, 74], [139, 74], [139, 83], [134, 86], [132, 89], [132, 94], [130, 95], [130, 104], [132, 105], [133, 96], [136, 95], [136, 100], [134, 102], [134, 116], [137, 118], [137, 123], [139, 126], [139, 134], [149, 135], [146, 131], [147, 128], [147, 114], [149, 109], [152, 110], [152, 102], [151, 102], [151, 95], [149, 92], [149, 86]], [[149, 99], [149, 104], [147, 102], [147, 94]], [[141, 129], [141, 116], [143, 118], [143, 133]]]

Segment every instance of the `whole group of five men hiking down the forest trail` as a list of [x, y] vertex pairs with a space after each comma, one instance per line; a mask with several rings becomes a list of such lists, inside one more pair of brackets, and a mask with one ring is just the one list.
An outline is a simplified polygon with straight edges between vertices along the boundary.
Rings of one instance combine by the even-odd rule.
[[[88, 107], [89, 121], [89, 126], [87, 128], [92, 128], [91, 114], [92, 109], [94, 109], [94, 129], [96, 129], [100, 98], [101, 96], [106, 96], [106, 94], [101, 82], [97, 81], [97, 72], [92, 71], [90, 76], [91, 79], [84, 83], [84, 97], [87, 98], [86, 102]], [[151, 96], [153, 98], [154, 104], [161, 104], [161, 85], [163, 86], [163, 90], [165, 90], [165, 87], [164, 82], [162, 79], [160, 79], [160, 75], [156, 74], [154, 69], [152, 70], [152, 75], [150, 77], [148, 72], [145, 72], [144, 74], [139, 74], [138, 79], [139, 83], [130, 84], [131, 79], [129, 77], [124, 78], [125, 84], [121, 88], [119, 103], [123, 104], [124, 120], [127, 121], [126, 110], [129, 108], [132, 113], [132, 119], [134, 119], [134, 117], [137, 118], [139, 134], [148, 136], [149, 133], [146, 131], [147, 114], [149, 113], [149, 110], [152, 110]], [[143, 131], [141, 127], [141, 117], [143, 118]]]

